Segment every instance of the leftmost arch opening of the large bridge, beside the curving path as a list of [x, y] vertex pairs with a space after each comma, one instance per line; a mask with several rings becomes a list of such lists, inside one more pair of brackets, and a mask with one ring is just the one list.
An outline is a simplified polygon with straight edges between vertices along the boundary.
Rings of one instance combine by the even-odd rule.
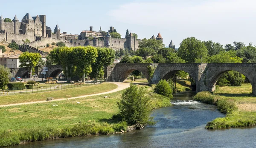
[[[131, 82], [131, 81], [139, 82], [140, 81], [140, 82], [148, 83], [149, 82], [148, 77], [146, 77], [146, 75], [144, 73], [145, 72], [139, 71], [137, 69], [129, 69], [127, 71], [124, 71], [122, 74], [120, 74], [118, 77], [118, 80], [114, 80], [114, 81], [123, 82], [126, 80], [127, 82]], [[134, 79], [133, 79], [133, 77], [134, 77]]]

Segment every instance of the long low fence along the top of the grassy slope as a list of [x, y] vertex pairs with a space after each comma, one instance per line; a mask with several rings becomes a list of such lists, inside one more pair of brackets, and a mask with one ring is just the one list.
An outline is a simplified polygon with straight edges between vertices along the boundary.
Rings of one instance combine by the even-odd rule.
[[[86, 81], [84, 83], [58, 83], [58, 84], [50, 84], [48, 87], [46, 84], [45, 86], [33, 86], [32, 89], [23, 89], [23, 90], [14, 90], [14, 91], [0, 91], [0, 96], [6, 96], [6, 95], [17, 95], [17, 94], [32, 94], [32, 93], [38, 93], [38, 92], [46, 92], [46, 91], [58, 91], [62, 89], [67, 89], [67, 88], [78, 88], [82, 86], [89, 86], [89, 85], [98, 85], [103, 83], [103, 81]], [[36, 88], [34, 88], [36, 87]]]

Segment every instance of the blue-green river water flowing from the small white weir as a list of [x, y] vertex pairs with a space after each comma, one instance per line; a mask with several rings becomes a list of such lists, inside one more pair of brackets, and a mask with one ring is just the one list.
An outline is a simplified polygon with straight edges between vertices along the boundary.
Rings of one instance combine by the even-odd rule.
[[253, 148], [256, 128], [204, 129], [224, 117], [216, 106], [192, 101], [192, 91], [177, 93], [172, 106], [156, 109], [154, 126], [122, 134], [53, 139], [17, 145], [19, 148]]

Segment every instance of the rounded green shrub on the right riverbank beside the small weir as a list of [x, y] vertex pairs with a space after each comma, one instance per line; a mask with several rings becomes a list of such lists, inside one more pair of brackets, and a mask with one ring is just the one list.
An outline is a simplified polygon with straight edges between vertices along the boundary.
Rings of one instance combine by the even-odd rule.
[[207, 104], [216, 104], [214, 95], [212, 95], [212, 93], [209, 91], [198, 92], [195, 96], [193, 96], [193, 99]]

